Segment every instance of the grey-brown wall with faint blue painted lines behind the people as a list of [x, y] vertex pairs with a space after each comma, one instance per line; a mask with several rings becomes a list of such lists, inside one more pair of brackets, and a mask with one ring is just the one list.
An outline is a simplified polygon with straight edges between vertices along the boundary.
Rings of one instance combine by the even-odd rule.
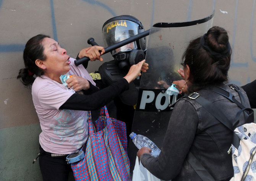
[[[213, 25], [229, 32], [233, 55], [229, 78], [238, 85], [256, 79], [256, 0], [0, 0], [0, 180], [42, 180], [38, 162], [41, 132], [31, 90], [16, 79], [27, 40], [47, 34], [71, 57], [102, 42], [102, 25], [118, 15], [133, 15], [145, 29], [157, 22], [204, 18], [215, 9]], [[177, 35], [182, 38], [185, 35]], [[104, 61], [112, 60], [109, 54]], [[90, 62], [94, 72], [100, 62]]]

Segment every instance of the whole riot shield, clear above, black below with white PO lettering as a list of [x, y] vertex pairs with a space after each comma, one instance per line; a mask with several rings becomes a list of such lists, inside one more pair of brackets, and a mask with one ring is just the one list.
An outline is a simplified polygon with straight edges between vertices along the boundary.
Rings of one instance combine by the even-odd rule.
[[[134, 113], [132, 131], [151, 139], [161, 148], [172, 109], [166, 85], [182, 79], [177, 70], [181, 68], [181, 57], [189, 41], [202, 36], [212, 27], [214, 12], [203, 19], [181, 23], [156, 23], [151, 28], [147, 46], [146, 62], [149, 69], [143, 73], [139, 97]], [[164, 81], [165, 86], [157, 82]], [[174, 97], [170, 97], [170, 103]], [[129, 142], [128, 155], [131, 173], [138, 149]]]

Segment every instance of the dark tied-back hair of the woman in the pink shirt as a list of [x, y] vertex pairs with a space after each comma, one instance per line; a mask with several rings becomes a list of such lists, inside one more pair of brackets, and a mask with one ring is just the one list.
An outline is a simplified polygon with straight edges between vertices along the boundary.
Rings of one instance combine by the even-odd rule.
[[33, 75], [41, 76], [43, 74], [42, 69], [36, 65], [35, 61], [37, 59], [46, 59], [46, 56], [44, 55], [44, 47], [42, 45], [44, 38], [50, 38], [50, 36], [39, 34], [32, 37], [26, 43], [25, 49], [23, 51], [25, 68], [19, 70], [17, 79], [20, 79], [26, 87], [33, 84], [35, 80]]

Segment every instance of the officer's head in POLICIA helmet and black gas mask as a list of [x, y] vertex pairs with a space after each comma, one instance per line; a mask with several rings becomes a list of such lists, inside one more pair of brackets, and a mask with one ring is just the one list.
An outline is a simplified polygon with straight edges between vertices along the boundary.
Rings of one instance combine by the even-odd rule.
[[[144, 32], [141, 22], [133, 16], [122, 15], [107, 20], [102, 27], [105, 47], [117, 44], [134, 35]], [[117, 48], [111, 52], [120, 69], [128, 69], [145, 58], [146, 37]]]

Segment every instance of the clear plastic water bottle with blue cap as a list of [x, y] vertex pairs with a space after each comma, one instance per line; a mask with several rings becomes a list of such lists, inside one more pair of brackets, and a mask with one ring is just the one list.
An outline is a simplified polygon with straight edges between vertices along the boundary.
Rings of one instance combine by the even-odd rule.
[[136, 134], [131, 132], [130, 134], [130, 138], [133, 140], [135, 146], [138, 149], [141, 149], [142, 147], [149, 147], [152, 151], [150, 152], [150, 154], [153, 157], [158, 157], [158, 155], [160, 154], [161, 150], [157, 147], [156, 144], [154, 144], [154, 142], [152, 142], [149, 138], [147, 138], [146, 136], [140, 135], [140, 134]]

